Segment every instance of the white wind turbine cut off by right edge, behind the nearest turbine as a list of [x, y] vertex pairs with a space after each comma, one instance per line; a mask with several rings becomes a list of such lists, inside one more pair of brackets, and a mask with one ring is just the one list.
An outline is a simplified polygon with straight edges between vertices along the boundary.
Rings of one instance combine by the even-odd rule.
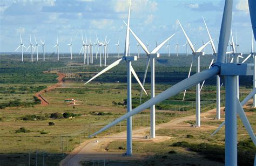
[[[250, 57], [253, 58], [253, 64], [254, 64], [254, 73], [253, 73], [253, 89], [256, 89], [256, 53], [254, 52], [254, 37], [253, 37], [253, 31], [252, 31], [252, 48], [251, 53], [242, 61], [242, 64], [245, 63], [247, 59]], [[256, 107], [256, 95], [253, 95], [253, 107]]]

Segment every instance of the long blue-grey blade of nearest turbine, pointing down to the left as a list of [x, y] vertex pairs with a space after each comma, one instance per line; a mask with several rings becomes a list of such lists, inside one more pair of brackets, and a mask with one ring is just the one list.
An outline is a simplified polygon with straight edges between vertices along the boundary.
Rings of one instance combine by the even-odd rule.
[[203, 80], [211, 78], [214, 75], [218, 74], [219, 72], [220, 72], [219, 67], [213, 66], [212, 68], [210, 68], [208, 70], [205, 70], [205, 71], [200, 72], [200, 73], [196, 73], [196, 74], [192, 75], [192, 77], [187, 78], [183, 81], [180, 81], [178, 84], [173, 85], [172, 87], [166, 89], [164, 92], [158, 94], [154, 98], [144, 102], [142, 105], [138, 106], [137, 108], [134, 108], [133, 110], [131, 110], [131, 112], [126, 113], [122, 117], [119, 117], [118, 119], [109, 123], [109, 125], [106, 125], [105, 127], [98, 130], [96, 133], [90, 135], [89, 137], [95, 136], [95, 135], [103, 132], [104, 130], [116, 125], [117, 123], [119, 123], [123, 120], [126, 120], [127, 118], [129, 118], [129, 117], [131, 117], [135, 114], [138, 114], [138, 113], [142, 112], [146, 108], [149, 108], [153, 105], [156, 105], [157, 103], [159, 103], [161, 101], [164, 101], [164, 100], [170, 98], [171, 96], [174, 96], [174, 95], [180, 93], [181, 91], [184, 91], [185, 89], [190, 88], [190, 87], [198, 84], [199, 82], [201, 82]]

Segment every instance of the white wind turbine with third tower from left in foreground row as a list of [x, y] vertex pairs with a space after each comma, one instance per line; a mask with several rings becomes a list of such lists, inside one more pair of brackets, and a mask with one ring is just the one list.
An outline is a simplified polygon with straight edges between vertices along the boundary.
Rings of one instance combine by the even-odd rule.
[[[179, 20], [178, 20], [178, 22], [179, 22]], [[191, 48], [192, 54], [193, 54], [193, 59], [192, 59], [192, 62], [191, 62], [190, 71], [188, 72], [188, 78], [189, 78], [190, 74], [191, 74], [191, 69], [192, 69], [194, 58], [197, 59], [197, 73], [200, 72], [200, 56], [204, 56], [204, 52], [201, 52], [201, 51], [204, 49], [204, 47], [206, 47], [207, 44], [209, 44], [211, 42], [211, 40], [208, 41], [205, 45], [201, 46], [196, 51], [196, 49], [194, 49], [193, 44], [191, 43], [190, 38], [188, 38], [188, 36], [187, 36], [186, 32], [184, 31], [183, 26], [180, 24], [180, 22], [179, 22], [179, 25], [180, 25], [180, 27], [181, 27], [181, 29], [182, 29], [182, 31], [183, 31], [186, 39], [187, 39], [188, 44], [190, 45], [190, 48]], [[199, 84], [196, 85], [196, 88], [197, 88], [197, 90], [196, 90], [196, 93], [197, 93], [196, 94], [196, 126], [200, 127], [200, 82], [199, 82]], [[183, 100], [185, 98], [185, 94], [186, 94], [186, 90], [184, 91]]]

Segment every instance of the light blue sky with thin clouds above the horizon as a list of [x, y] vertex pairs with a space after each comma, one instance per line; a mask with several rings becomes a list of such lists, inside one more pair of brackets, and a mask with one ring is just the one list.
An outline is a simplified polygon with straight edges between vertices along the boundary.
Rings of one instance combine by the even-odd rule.
[[[35, 44], [45, 40], [46, 52], [56, 52], [53, 46], [59, 38], [60, 52], [69, 52], [67, 44], [73, 38], [73, 51], [79, 52], [82, 46], [81, 31], [87, 39], [100, 40], [107, 35], [110, 40], [110, 52], [117, 52], [120, 38], [120, 51], [124, 50], [125, 25], [127, 21], [128, 1], [126, 0], [1, 0], [0, 1], [0, 52], [14, 52], [19, 45], [19, 33], [23, 43], [29, 45], [29, 34]], [[131, 11], [131, 28], [144, 43], [150, 44], [150, 50], [165, 38], [176, 33], [170, 40], [171, 52], [178, 41], [180, 52], [185, 52], [186, 39], [177, 18], [183, 24], [192, 42], [202, 45], [202, 39], [208, 40], [203, 23], [204, 16], [212, 37], [217, 43], [223, 0], [133, 0]], [[240, 44], [239, 50], [249, 52], [251, 48], [251, 23], [248, 14], [247, 0], [234, 0], [232, 30]], [[137, 45], [131, 36], [131, 52], [137, 52]], [[39, 49], [41, 50], [41, 48]], [[162, 49], [160, 52], [166, 52]], [[210, 45], [206, 49], [210, 52]]]

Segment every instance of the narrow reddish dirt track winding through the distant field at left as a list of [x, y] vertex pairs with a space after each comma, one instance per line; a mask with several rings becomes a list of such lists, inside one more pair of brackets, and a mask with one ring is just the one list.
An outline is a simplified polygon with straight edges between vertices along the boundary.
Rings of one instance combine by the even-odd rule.
[[58, 73], [58, 76], [59, 76], [59, 77], [57, 78], [58, 82], [57, 82], [56, 84], [54, 84], [54, 85], [52, 85], [52, 86], [49, 86], [49, 87], [43, 89], [42, 91], [39, 91], [39, 92], [37, 92], [36, 94], [34, 94], [35, 96], [37, 96], [37, 98], [38, 98], [39, 100], [41, 100], [41, 105], [42, 105], [42, 106], [47, 106], [47, 105], [50, 104], [50, 103], [42, 96], [42, 94], [45, 93], [45, 92], [51, 91], [51, 89], [54, 89], [54, 88], [56, 88], [57, 86], [63, 84], [63, 78], [65, 78], [65, 74], [63, 74], [63, 73]]

